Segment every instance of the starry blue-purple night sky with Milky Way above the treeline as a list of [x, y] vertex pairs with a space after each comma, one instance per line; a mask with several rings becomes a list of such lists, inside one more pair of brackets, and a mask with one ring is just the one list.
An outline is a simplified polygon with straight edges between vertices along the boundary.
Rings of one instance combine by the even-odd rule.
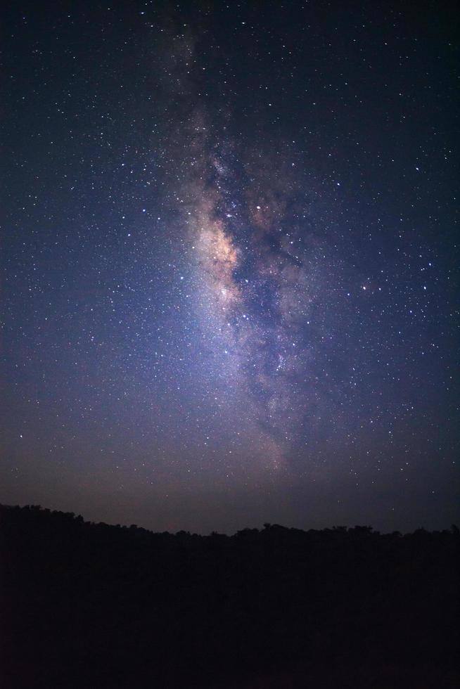
[[456, 20], [9, 5], [1, 503], [459, 521]]

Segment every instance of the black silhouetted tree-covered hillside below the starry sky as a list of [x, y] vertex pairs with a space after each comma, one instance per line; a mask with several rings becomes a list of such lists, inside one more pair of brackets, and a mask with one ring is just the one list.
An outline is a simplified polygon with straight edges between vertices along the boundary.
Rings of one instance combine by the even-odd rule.
[[153, 534], [0, 508], [4, 689], [459, 685], [456, 527]]

